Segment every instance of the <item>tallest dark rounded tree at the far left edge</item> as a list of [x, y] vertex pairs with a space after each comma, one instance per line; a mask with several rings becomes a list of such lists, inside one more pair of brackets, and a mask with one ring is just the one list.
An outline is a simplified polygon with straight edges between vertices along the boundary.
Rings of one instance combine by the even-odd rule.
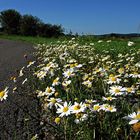
[[21, 15], [13, 9], [0, 12], [0, 24], [5, 33], [18, 34]]

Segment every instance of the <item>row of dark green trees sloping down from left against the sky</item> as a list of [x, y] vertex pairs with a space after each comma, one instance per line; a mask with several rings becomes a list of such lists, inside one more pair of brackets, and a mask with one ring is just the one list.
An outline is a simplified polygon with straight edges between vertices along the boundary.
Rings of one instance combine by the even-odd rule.
[[6, 34], [58, 37], [63, 35], [61, 25], [52, 25], [42, 22], [32, 15], [21, 15], [14, 9], [0, 12], [0, 31]]

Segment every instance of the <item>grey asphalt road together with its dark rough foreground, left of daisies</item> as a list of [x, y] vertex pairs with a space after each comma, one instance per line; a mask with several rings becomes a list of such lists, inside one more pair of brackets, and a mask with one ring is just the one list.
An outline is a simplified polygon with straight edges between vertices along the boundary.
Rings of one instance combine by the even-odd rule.
[[[0, 90], [14, 86], [10, 77], [34, 59], [33, 51], [31, 44], [0, 39]], [[0, 140], [28, 140], [38, 133], [39, 121], [32, 117], [39, 118], [38, 101], [28, 96], [28, 87], [19, 88], [16, 93], [10, 90], [7, 100], [0, 101]]]

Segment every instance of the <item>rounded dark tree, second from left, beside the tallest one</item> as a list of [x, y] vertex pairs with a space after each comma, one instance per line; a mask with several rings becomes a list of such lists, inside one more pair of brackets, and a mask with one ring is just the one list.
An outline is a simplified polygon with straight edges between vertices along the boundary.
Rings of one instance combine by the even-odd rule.
[[22, 16], [20, 22], [20, 33], [27, 36], [36, 36], [40, 22], [39, 18], [32, 15]]

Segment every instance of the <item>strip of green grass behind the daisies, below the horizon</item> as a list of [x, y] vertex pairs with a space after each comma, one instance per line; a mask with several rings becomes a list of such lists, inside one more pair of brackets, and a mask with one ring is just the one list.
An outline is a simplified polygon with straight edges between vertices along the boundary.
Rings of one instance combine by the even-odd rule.
[[[3, 39], [9, 39], [9, 40], [16, 40], [16, 41], [23, 41], [23, 42], [28, 42], [32, 44], [38, 44], [38, 43], [45, 43], [45, 44], [50, 44], [50, 43], [56, 43], [59, 40], [60, 42], [62, 41], [67, 41], [70, 40], [70, 37], [59, 37], [59, 38], [45, 38], [45, 37], [31, 37], [31, 36], [18, 36], [18, 35], [3, 35], [0, 34], [0, 38]], [[110, 54], [118, 54], [118, 53], [126, 53], [130, 49], [133, 51], [136, 51], [137, 49], [140, 49], [140, 38], [132, 38], [132, 39], [119, 39], [119, 38], [105, 38], [102, 39], [102, 43], [97, 43], [97, 41], [100, 38], [95, 38], [92, 36], [84, 36], [84, 37], [77, 37], [76, 42], [80, 45], [89, 45], [90, 43], [94, 43], [94, 48], [98, 53], [102, 53], [102, 51], [109, 51]], [[111, 40], [110, 43], [107, 43], [107, 40]], [[128, 41], [134, 41], [135, 45], [132, 47], [127, 46]]]

